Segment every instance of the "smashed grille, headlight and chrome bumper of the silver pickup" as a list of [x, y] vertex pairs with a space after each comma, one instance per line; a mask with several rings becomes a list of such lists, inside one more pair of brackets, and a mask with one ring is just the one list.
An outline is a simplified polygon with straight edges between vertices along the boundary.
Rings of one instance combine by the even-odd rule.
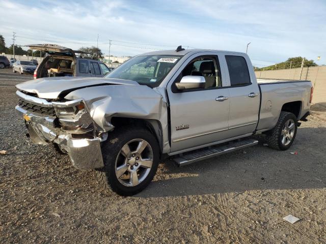
[[16, 112], [25, 120], [34, 143], [56, 143], [80, 170], [104, 166], [100, 142], [92, 117], [82, 99], [48, 102], [20, 91]]

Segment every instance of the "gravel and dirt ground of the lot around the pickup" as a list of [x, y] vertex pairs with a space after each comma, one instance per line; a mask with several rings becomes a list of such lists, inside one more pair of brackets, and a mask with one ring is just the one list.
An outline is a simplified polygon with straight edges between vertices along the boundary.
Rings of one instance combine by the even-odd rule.
[[120, 197], [25, 137], [14, 85], [32, 78], [0, 70], [1, 243], [326, 242], [323, 111], [288, 151], [260, 143], [182, 168], [167, 160], [145, 191]]

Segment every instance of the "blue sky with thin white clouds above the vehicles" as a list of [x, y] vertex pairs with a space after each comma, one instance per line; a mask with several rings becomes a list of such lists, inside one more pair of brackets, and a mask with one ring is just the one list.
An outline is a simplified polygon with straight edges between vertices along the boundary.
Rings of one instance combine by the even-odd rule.
[[[257, 67], [304, 56], [326, 64], [326, 1], [4, 1], [6, 44], [98, 46], [111, 55], [161, 49], [246, 52]], [[321, 59], [318, 61], [317, 56]]]

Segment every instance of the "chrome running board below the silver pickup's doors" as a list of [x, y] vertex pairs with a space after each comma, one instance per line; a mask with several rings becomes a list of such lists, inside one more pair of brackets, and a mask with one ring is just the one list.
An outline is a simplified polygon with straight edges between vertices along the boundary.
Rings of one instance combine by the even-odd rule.
[[206, 147], [203, 149], [198, 149], [195, 151], [190, 151], [189, 153], [184, 153], [179, 155], [179, 157], [173, 158], [178, 166], [184, 166], [188, 164], [195, 163], [204, 159], [215, 157], [222, 154], [231, 153], [232, 151], [239, 150], [245, 147], [257, 145], [258, 141], [254, 139], [244, 139], [241, 141], [230, 142], [227, 145], [215, 145]]

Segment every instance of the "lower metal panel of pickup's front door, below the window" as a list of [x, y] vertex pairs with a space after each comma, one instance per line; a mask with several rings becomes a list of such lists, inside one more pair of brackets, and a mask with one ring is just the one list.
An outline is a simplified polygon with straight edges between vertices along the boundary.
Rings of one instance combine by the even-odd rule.
[[208, 89], [169, 94], [171, 151], [177, 151], [228, 137], [230, 101], [228, 89]]

